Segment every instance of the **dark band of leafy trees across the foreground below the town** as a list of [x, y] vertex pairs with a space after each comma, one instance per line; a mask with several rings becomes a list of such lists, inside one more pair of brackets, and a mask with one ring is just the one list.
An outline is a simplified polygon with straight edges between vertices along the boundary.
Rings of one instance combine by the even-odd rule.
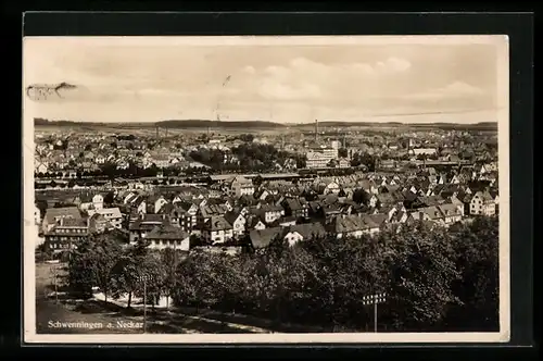
[[[73, 289], [98, 286], [109, 297], [141, 292], [142, 275], [153, 298], [213, 308], [277, 322], [329, 329], [366, 329], [372, 308], [366, 296], [386, 292], [380, 329], [495, 331], [498, 304], [498, 235], [495, 217], [430, 229], [421, 224], [363, 239], [317, 238], [289, 247], [275, 240], [238, 257], [146, 245], [119, 247], [99, 236], [70, 261]], [[129, 301], [130, 302], [130, 301]]]

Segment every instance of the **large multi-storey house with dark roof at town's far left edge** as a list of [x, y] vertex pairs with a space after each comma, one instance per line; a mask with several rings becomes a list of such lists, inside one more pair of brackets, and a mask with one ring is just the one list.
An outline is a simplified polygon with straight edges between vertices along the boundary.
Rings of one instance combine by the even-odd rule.
[[49, 225], [43, 234], [45, 244], [53, 252], [77, 248], [89, 235], [88, 223], [81, 217], [60, 216]]

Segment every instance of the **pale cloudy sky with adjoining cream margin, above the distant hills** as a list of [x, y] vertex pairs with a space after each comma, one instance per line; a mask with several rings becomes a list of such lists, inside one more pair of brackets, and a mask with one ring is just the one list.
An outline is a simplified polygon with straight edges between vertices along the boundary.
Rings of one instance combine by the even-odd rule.
[[495, 122], [502, 109], [495, 41], [241, 39], [25, 38], [25, 88], [78, 88], [24, 108], [79, 122], [278, 123]]

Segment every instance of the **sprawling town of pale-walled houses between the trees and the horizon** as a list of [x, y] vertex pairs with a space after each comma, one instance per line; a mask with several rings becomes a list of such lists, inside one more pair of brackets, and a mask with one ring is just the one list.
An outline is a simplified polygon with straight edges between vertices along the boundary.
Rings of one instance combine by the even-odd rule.
[[290, 137], [37, 133], [36, 239], [62, 252], [116, 229], [150, 247], [239, 251], [498, 210], [496, 133], [334, 137], [315, 122]]

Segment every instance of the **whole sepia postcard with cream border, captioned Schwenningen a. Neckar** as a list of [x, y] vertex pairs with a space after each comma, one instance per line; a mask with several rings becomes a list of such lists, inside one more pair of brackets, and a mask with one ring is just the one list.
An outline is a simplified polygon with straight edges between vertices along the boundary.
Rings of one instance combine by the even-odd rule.
[[508, 75], [503, 35], [25, 37], [25, 341], [508, 341]]

